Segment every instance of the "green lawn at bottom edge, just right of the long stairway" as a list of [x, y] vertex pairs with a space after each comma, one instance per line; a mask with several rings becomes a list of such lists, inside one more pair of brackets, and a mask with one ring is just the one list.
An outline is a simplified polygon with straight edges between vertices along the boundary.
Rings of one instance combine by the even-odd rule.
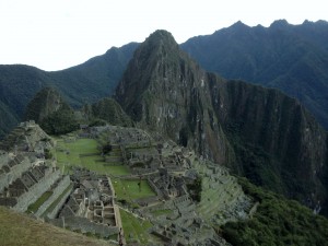
[[150, 243], [151, 235], [148, 230], [152, 227], [152, 224], [149, 221], [133, 216], [133, 214], [122, 209], [120, 209], [119, 212], [127, 243], [133, 243], [136, 239], [142, 245]]

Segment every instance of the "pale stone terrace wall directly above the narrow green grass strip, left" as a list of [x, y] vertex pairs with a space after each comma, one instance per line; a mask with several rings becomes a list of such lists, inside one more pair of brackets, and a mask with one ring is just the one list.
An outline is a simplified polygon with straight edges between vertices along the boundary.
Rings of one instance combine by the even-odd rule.
[[60, 171], [57, 169], [46, 175], [38, 180], [27, 192], [23, 194], [17, 198], [17, 203], [13, 207], [13, 210], [17, 212], [24, 212], [28, 206], [35, 202], [44, 192], [46, 192], [51, 185], [59, 178]]

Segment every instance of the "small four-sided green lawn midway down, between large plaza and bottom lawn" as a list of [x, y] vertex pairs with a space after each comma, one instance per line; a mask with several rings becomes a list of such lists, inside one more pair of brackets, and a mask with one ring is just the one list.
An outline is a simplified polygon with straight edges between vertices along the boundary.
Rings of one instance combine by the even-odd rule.
[[124, 180], [113, 178], [112, 183], [118, 199], [132, 202], [133, 199], [156, 196], [147, 180], [141, 180], [141, 189], [138, 186], [139, 179]]

